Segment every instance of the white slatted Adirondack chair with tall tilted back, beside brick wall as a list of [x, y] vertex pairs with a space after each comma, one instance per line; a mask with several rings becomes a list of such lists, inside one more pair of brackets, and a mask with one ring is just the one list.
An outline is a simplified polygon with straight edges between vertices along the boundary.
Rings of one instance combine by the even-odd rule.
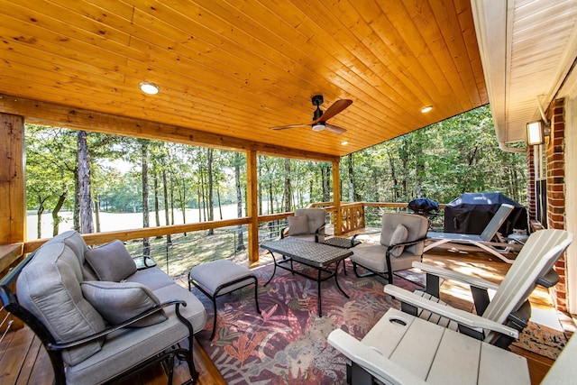
[[[559, 276], [555, 262], [572, 243], [573, 235], [563, 230], [540, 230], [527, 239], [500, 284], [458, 271], [415, 262], [413, 267], [426, 272], [426, 290], [410, 292], [387, 285], [384, 290], [401, 301], [401, 309], [438, 325], [470, 335], [484, 342], [507, 348], [517, 339], [531, 316], [529, 296], [541, 285], [553, 287]], [[439, 297], [439, 277], [470, 285], [476, 314], [447, 306]], [[494, 290], [490, 298], [489, 290]]]

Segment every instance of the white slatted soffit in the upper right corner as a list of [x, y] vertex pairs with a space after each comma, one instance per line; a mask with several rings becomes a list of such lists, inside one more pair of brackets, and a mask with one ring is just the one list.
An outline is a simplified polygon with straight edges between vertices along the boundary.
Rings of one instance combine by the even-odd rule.
[[[577, 0], [472, 0], [499, 142], [526, 140], [577, 56]], [[566, 82], [565, 82], [566, 83]]]

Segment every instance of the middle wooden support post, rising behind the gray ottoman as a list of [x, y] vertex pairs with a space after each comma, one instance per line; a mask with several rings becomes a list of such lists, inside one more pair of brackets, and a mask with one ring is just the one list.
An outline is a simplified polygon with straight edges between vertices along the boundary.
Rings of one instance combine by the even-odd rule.
[[246, 156], [247, 215], [249, 222], [249, 262], [259, 261], [259, 209], [258, 209], [258, 173], [256, 165], [257, 151], [251, 150]]

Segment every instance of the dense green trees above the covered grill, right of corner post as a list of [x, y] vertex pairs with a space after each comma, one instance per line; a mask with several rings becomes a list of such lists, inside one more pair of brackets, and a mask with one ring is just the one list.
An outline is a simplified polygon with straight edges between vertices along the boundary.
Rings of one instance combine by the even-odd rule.
[[527, 201], [527, 157], [499, 149], [488, 105], [358, 151], [353, 164], [355, 188], [365, 201], [430, 197], [448, 203], [481, 191]]

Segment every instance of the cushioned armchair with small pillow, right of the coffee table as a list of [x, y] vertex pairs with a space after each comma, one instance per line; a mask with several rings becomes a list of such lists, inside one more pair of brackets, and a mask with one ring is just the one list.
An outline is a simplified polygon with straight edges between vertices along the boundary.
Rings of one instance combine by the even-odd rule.
[[[385, 213], [380, 225], [380, 242], [355, 247], [351, 261], [357, 277], [379, 275], [392, 283], [393, 272], [411, 269], [414, 261], [421, 261], [428, 221], [422, 215]], [[359, 273], [358, 266], [368, 272]]]

